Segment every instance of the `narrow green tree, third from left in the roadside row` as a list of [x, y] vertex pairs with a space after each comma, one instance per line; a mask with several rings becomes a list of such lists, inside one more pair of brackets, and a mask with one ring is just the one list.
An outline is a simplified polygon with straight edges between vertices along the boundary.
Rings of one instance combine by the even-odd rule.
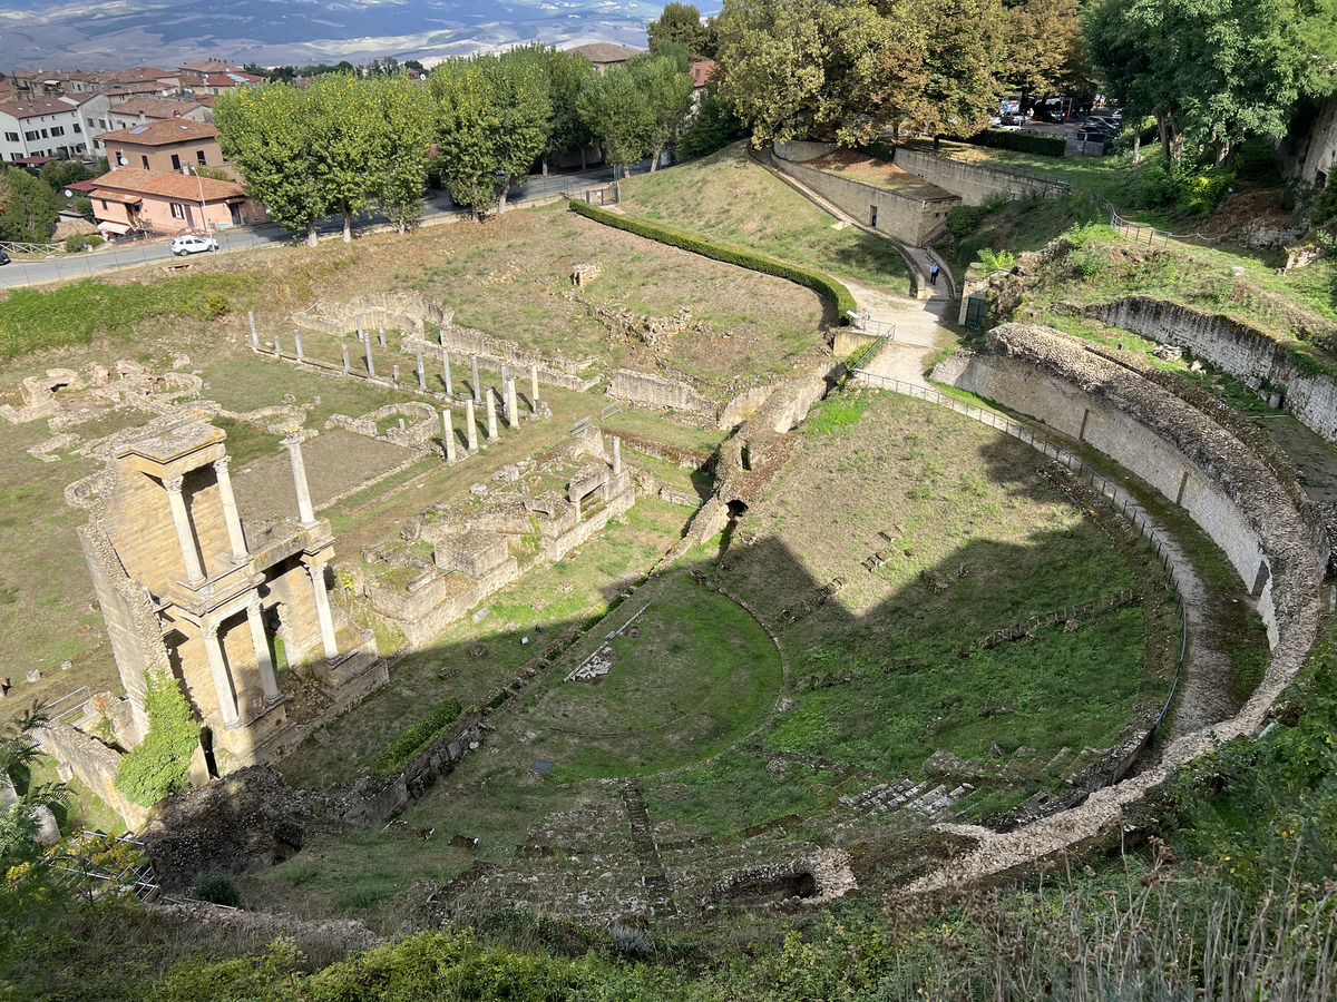
[[400, 73], [376, 86], [386, 152], [376, 178], [374, 199], [404, 232], [422, 216], [422, 188], [435, 135], [431, 95]]

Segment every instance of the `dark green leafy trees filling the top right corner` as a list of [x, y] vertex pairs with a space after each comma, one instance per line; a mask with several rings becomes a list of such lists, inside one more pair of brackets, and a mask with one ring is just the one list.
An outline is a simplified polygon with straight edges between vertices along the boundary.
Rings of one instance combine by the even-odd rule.
[[1165, 156], [1185, 144], [1225, 164], [1247, 135], [1285, 134], [1296, 100], [1337, 90], [1337, 0], [1098, 0], [1083, 16], [1091, 61]]

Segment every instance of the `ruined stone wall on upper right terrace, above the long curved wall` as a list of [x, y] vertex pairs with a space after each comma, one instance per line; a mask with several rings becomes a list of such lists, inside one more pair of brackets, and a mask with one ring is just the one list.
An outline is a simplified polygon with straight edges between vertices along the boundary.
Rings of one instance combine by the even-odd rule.
[[1337, 442], [1337, 381], [1330, 375], [1302, 374], [1285, 347], [1257, 327], [1144, 295], [1116, 299], [1095, 307], [1094, 313], [1115, 327], [1186, 347], [1241, 379], [1266, 381], [1282, 390], [1286, 407], [1300, 421]]

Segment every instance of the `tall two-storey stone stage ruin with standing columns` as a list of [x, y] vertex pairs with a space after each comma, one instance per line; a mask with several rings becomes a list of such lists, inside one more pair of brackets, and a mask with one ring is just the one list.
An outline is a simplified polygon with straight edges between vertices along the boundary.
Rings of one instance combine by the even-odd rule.
[[148, 729], [147, 673], [163, 673], [210, 731], [219, 772], [273, 762], [320, 723], [289, 719], [275, 640], [324, 689], [321, 720], [386, 681], [374, 640], [330, 607], [333, 538], [312, 508], [299, 436], [283, 441], [298, 518], [255, 526], [238, 516], [225, 438], [187, 411], [123, 434], [102, 473], [66, 490], [88, 512], [79, 540], [127, 693], [127, 743]]

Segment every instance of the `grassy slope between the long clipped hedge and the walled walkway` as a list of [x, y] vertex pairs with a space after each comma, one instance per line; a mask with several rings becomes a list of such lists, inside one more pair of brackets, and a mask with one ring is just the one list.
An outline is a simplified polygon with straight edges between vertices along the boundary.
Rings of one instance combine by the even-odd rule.
[[890, 243], [842, 226], [753, 163], [742, 143], [685, 167], [626, 180], [622, 199], [628, 212], [646, 219], [909, 294], [909, 273]]

